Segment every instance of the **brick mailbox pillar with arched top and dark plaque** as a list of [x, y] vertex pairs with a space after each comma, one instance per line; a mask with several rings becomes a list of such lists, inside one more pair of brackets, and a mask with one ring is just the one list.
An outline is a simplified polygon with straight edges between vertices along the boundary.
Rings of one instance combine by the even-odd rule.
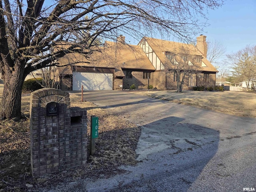
[[30, 148], [33, 177], [69, 170], [86, 163], [86, 110], [70, 108], [62, 90], [31, 93]]

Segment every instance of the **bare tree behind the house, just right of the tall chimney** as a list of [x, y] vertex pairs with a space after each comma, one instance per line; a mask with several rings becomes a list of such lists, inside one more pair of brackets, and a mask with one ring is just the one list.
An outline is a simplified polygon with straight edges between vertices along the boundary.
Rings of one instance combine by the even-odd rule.
[[214, 40], [207, 42], [207, 59], [213, 65], [220, 64], [220, 60], [225, 56], [226, 46], [223, 42]]

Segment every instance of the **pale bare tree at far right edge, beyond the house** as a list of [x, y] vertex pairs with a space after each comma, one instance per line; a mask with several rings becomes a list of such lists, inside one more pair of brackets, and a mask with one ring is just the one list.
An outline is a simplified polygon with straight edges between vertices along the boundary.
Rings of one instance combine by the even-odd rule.
[[227, 55], [232, 64], [232, 75], [238, 81], [245, 81], [247, 90], [256, 81], [256, 46], [246, 46], [234, 54]]

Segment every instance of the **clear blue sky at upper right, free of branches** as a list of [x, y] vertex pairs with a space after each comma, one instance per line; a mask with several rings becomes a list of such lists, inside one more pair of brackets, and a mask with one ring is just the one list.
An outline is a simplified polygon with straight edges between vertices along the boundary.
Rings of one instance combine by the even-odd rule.
[[256, 46], [256, 0], [227, 0], [210, 10], [206, 40], [226, 45], [226, 54], [235, 53], [246, 45]]

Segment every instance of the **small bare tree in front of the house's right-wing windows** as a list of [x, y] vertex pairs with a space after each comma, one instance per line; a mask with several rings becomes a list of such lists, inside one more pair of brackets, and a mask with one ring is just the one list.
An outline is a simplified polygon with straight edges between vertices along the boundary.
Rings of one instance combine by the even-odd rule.
[[166, 53], [165, 67], [174, 74], [177, 92], [182, 92], [184, 80], [193, 74], [200, 73], [202, 56], [193, 55], [186, 47], [180, 47], [175, 53]]

